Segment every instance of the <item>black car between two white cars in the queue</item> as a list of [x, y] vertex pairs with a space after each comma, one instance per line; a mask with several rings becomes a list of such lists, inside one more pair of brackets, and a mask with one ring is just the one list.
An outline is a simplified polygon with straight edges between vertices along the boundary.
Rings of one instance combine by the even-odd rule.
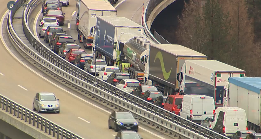
[[113, 72], [108, 76], [107, 82], [116, 86], [122, 79], [130, 79], [130, 75], [125, 72]]

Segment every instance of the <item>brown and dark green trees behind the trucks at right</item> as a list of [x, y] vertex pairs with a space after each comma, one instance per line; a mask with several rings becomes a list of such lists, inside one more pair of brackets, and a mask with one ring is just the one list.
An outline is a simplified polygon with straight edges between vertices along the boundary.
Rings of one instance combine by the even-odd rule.
[[190, 0], [178, 20], [175, 44], [261, 77], [261, 0]]

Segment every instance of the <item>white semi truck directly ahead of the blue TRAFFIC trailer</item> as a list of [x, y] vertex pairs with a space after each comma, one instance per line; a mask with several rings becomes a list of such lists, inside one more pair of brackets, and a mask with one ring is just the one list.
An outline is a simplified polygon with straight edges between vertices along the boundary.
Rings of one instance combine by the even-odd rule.
[[97, 16], [116, 16], [117, 11], [107, 0], [77, 0], [76, 25], [78, 40], [88, 49], [93, 48]]

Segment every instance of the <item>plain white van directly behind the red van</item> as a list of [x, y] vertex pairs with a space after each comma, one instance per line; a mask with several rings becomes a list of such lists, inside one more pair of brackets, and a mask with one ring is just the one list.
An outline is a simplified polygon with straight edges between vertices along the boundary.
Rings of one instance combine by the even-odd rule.
[[[180, 107], [180, 106], [178, 106]], [[185, 119], [200, 124], [215, 113], [213, 97], [205, 95], [185, 95], [182, 99], [179, 115]]]

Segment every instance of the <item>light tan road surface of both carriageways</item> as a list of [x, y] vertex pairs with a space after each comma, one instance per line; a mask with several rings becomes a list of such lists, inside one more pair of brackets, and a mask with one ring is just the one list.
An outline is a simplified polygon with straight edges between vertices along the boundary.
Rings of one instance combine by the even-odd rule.
[[[8, 1], [1, 0], [1, 2], [3, 5], [6, 5]], [[76, 1], [71, 0], [68, 7], [63, 7], [63, 11], [66, 13], [66, 24], [64, 25], [64, 29], [68, 34], [77, 38], [75, 15], [73, 14], [75, 13], [75, 4]], [[117, 5], [117, 15], [125, 16], [126, 18], [140, 23], [142, 4], [143, 1], [141, 2], [140, 0], [123, 1], [120, 5]], [[31, 15], [30, 29], [32, 32], [35, 32], [34, 30], [38, 29], [39, 23], [37, 22], [37, 16], [42, 16], [41, 14], [38, 14], [40, 8], [41, 6], [38, 6]], [[4, 15], [6, 10], [7, 8], [2, 8], [1, 16]], [[4, 27], [1, 27], [0, 33], [5, 32]], [[3, 35], [6, 35], [6, 33]], [[1, 39], [3, 38], [3, 35], [1, 34]], [[40, 38], [40, 40], [43, 42], [43, 39]], [[114, 138], [113, 136], [115, 136], [116, 133], [113, 130], [108, 129], [110, 110], [86, 99], [84, 96], [78, 95], [73, 90], [49, 78], [38, 69], [31, 67], [22, 56], [13, 51], [14, 48], [10, 43], [6, 43], [0, 43], [1, 94], [25, 107], [32, 108], [32, 100], [36, 92], [53, 92], [58, 99], [60, 99], [60, 114], [41, 115], [86, 139]], [[77, 43], [79, 44], [78, 40]], [[139, 133], [144, 139], [170, 139], [170, 137], [152, 130], [147, 126], [141, 125], [140, 127]]]

